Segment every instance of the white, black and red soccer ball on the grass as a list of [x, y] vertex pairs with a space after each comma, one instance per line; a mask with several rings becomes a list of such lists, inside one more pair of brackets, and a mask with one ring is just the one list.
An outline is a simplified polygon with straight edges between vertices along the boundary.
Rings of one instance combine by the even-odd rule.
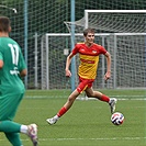
[[121, 125], [124, 122], [124, 115], [120, 112], [115, 112], [112, 114], [111, 121], [114, 125]]

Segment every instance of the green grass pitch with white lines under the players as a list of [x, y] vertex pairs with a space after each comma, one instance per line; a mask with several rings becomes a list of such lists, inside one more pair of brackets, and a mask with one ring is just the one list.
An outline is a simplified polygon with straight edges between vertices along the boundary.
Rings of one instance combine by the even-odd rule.
[[[54, 94], [63, 93], [64, 98], [50, 98], [50, 92], [27, 91], [14, 119], [19, 123], [38, 125], [40, 146], [146, 145], [145, 90], [103, 91], [112, 97], [120, 96], [116, 111], [125, 116], [124, 123], [120, 126], [111, 123], [109, 105], [99, 100], [76, 100], [72, 108], [55, 125], [48, 125], [46, 119], [56, 114], [69, 93], [55, 91]], [[127, 97], [122, 100], [122, 96], [125, 94]], [[126, 98], [128, 100], [125, 100]], [[26, 135], [21, 134], [21, 138], [24, 146], [32, 146]], [[11, 146], [2, 133], [0, 133], [0, 146]]]

